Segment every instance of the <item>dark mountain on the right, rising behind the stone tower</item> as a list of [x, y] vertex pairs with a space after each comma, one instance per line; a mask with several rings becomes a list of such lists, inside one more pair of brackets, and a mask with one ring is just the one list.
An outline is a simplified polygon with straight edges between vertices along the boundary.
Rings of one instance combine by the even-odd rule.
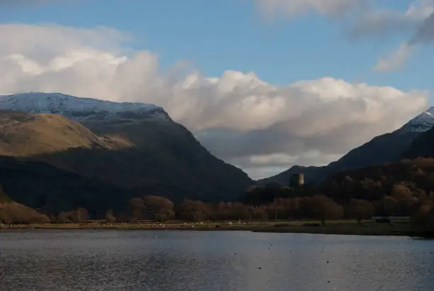
[[[418, 144], [419, 147], [425, 146], [429, 148], [428, 136], [432, 136], [431, 141], [434, 141], [434, 131], [431, 130], [433, 126], [434, 107], [431, 107], [414, 119], [411, 119], [411, 121], [408, 121], [408, 123], [404, 124], [404, 126], [398, 130], [372, 138], [371, 141], [350, 150], [350, 152], [342, 158], [325, 167], [294, 166], [285, 172], [260, 180], [259, 182], [278, 182], [281, 185], [287, 185], [289, 177], [292, 174], [303, 172], [306, 182], [318, 183], [323, 182], [327, 177], [341, 171], [356, 170], [370, 165], [381, 165], [383, 163], [400, 160], [408, 155], [418, 155], [419, 153], [423, 153], [423, 151], [418, 152], [416, 149], [413, 149], [413, 154], [410, 153], [410, 148], [416, 147], [413, 146], [413, 142], [416, 143], [416, 145]], [[426, 141], [418, 142], [418, 138], [423, 137]]]

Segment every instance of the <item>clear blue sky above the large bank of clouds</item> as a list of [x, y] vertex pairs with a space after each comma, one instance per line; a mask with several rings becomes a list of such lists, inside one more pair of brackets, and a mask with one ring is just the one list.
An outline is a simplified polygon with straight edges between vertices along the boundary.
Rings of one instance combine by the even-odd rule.
[[[375, 7], [405, 11], [411, 2], [380, 0]], [[60, 0], [2, 9], [0, 18], [4, 23], [109, 26], [131, 33], [131, 47], [158, 53], [163, 67], [189, 60], [211, 76], [240, 70], [254, 71], [274, 84], [332, 76], [399, 89], [434, 89], [427, 74], [434, 61], [431, 48], [420, 48], [405, 70], [372, 70], [406, 34], [354, 40], [342, 23], [315, 13], [265, 19], [252, 1]]]

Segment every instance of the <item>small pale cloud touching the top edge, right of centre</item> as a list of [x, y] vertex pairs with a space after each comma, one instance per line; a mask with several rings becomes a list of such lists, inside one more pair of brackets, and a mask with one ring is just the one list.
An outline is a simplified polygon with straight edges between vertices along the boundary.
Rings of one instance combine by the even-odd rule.
[[366, 0], [254, 0], [257, 9], [267, 17], [297, 16], [309, 11], [339, 17], [367, 4]]

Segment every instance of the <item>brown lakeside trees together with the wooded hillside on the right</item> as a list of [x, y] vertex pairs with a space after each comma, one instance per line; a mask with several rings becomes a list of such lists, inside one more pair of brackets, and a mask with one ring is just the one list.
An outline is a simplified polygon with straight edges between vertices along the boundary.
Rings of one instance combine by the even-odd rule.
[[[1, 204], [0, 204], [1, 205]], [[10, 221], [0, 207], [0, 220]], [[9, 215], [9, 216], [8, 216]], [[434, 225], [434, 159], [418, 158], [352, 172], [343, 172], [316, 187], [282, 187], [276, 184], [251, 187], [238, 202], [206, 203], [184, 199], [174, 205], [166, 197], [147, 195], [128, 201], [122, 212], [108, 209], [109, 222], [151, 220], [182, 221], [272, 221], [276, 219], [356, 219], [372, 216], [411, 216], [414, 221]], [[31, 217], [31, 218], [30, 218]], [[47, 216], [21, 215], [21, 220], [82, 222], [89, 219], [79, 208]]]

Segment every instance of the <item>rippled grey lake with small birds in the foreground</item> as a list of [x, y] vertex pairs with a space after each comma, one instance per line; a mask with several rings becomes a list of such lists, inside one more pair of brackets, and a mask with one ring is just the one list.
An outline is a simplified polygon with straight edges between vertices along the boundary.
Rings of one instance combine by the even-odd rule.
[[247, 231], [2, 231], [0, 290], [434, 290], [434, 241]]

